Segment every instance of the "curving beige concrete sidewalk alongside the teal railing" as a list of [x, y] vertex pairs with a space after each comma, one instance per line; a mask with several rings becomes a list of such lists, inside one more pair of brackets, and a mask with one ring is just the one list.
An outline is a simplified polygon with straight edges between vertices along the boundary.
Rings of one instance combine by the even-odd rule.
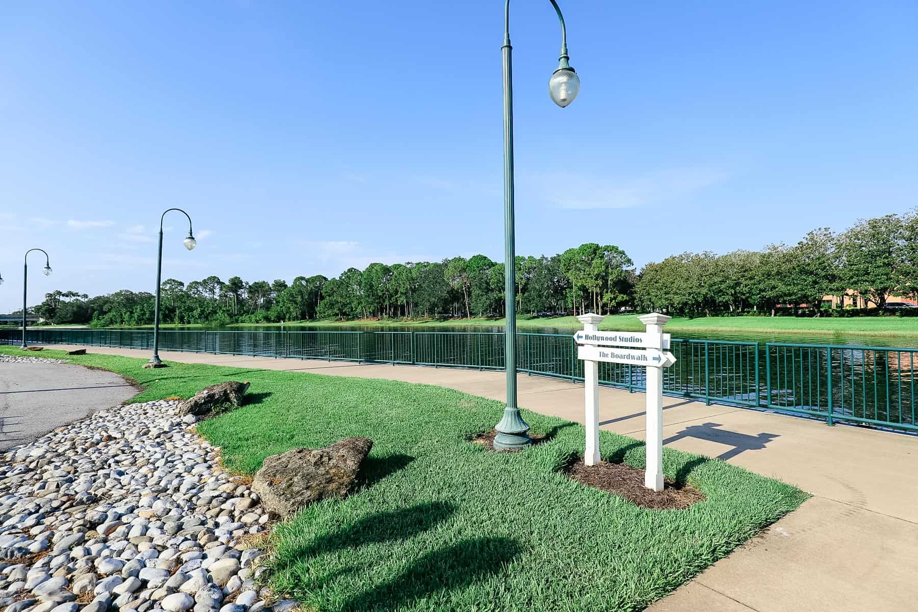
[[[72, 350], [78, 347], [61, 346]], [[79, 347], [84, 348], [84, 347]], [[149, 358], [150, 351], [91, 352]], [[162, 351], [164, 360], [437, 384], [505, 400], [503, 372]], [[582, 423], [582, 384], [521, 375], [523, 408]], [[644, 395], [600, 388], [602, 428], [644, 438]], [[664, 398], [664, 443], [813, 494], [655, 612], [918, 610], [918, 438]]]

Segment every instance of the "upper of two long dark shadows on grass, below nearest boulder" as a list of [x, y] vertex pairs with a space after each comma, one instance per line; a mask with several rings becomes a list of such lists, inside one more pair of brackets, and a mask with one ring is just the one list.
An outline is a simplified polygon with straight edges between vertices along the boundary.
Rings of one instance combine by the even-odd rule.
[[316, 538], [308, 546], [294, 551], [288, 562], [296, 563], [302, 557], [357, 548], [364, 544], [409, 540], [451, 517], [455, 509], [453, 504], [431, 502], [391, 512], [377, 512], [344, 529]]

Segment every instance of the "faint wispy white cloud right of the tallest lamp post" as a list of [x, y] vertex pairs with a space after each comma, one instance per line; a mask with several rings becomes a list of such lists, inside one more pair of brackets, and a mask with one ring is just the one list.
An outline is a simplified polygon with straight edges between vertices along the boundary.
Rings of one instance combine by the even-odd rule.
[[726, 172], [703, 168], [648, 172], [623, 179], [568, 174], [564, 180], [559, 180], [558, 176], [546, 177], [549, 181], [543, 193], [562, 208], [635, 208], [678, 200], [722, 183], [727, 177]]

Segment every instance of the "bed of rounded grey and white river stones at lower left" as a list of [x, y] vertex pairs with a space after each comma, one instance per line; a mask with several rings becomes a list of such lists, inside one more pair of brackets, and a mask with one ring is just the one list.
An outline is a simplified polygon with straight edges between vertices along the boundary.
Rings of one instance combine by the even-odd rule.
[[0, 610], [299, 606], [256, 585], [269, 515], [178, 404], [117, 406], [0, 453]]

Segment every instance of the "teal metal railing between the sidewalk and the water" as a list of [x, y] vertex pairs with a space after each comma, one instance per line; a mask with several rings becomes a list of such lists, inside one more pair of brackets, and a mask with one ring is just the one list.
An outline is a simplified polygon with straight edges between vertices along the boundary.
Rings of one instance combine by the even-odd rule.
[[[0, 343], [21, 331], [0, 329]], [[151, 350], [151, 329], [28, 329], [29, 342]], [[502, 370], [502, 333], [457, 331], [160, 331], [162, 351], [282, 359], [413, 364]], [[583, 380], [577, 344], [566, 334], [517, 335], [520, 373]], [[664, 371], [664, 392], [733, 406], [918, 431], [918, 349], [673, 339], [677, 362]], [[600, 384], [645, 388], [645, 369], [599, 364]]]

